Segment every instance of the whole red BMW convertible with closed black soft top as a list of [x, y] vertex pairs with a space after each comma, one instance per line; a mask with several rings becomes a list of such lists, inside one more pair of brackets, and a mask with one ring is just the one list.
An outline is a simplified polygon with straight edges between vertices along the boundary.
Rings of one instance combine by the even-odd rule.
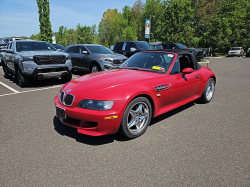
[[119, 69], [84, 75], [55, 97], [60, 121], [78, 133], [101, 136], [145, 133], [153, 117], [199, 99], [212, 100], [216, 76], [182, 50], [134, 54]]

